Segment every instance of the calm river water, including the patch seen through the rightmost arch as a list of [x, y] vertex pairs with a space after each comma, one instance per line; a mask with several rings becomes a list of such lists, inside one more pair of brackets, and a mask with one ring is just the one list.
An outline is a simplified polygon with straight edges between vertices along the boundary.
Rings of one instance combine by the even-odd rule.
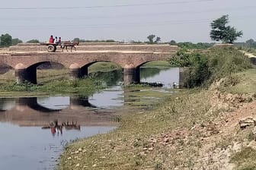
[[[114, 75], [107, 84], [120, 84], [120, 74]], [[178, 78], [178, 68], [141, 68], [142, 82], [164, 89]], [[117, 127], [125, 95], [116, 85], [92, 96], [0, 98], [0, 169], [56, 168], [66, 143]]]

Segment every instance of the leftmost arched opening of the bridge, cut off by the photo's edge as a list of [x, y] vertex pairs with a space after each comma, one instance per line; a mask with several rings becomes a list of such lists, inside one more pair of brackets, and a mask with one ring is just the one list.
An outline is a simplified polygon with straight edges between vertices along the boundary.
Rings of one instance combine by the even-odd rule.
[[14, 68], [0, 64], [0, 82], [14, 81]]

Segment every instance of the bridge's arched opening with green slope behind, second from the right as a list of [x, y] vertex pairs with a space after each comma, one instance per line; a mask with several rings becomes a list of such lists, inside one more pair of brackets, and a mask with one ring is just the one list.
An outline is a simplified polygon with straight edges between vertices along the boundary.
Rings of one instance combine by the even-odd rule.
[[85, 65], [82, 67], [82, 71], [85, 68], [88, 68], [89, 77], [101, 80], [107, 85], [117, 85], [123, 82], [123, 70], [113, 62], [97, 61]]

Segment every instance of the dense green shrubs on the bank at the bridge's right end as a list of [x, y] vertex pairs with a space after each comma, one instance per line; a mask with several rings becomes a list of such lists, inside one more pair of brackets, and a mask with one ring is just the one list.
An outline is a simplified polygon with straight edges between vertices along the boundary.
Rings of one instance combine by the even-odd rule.
[[174, 67], [189, 67], [184, 87], [209, 87], [214, 80], [252, 68], [251, 62], [234, 47], [213, 48], [209, 52], [181, 49], [169, 60]]

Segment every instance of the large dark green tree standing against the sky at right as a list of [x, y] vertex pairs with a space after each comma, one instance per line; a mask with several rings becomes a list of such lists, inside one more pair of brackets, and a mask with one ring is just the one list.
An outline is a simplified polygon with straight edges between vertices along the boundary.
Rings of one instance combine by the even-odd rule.
[[223, 15], [213, 20], [210, 31], [210, 38], [216, 41], [233, 43], [238, 37], [243, 35], [242, 31], [236, 31], [234, 27], [226, 26], [229, 23], [229, 15]]

